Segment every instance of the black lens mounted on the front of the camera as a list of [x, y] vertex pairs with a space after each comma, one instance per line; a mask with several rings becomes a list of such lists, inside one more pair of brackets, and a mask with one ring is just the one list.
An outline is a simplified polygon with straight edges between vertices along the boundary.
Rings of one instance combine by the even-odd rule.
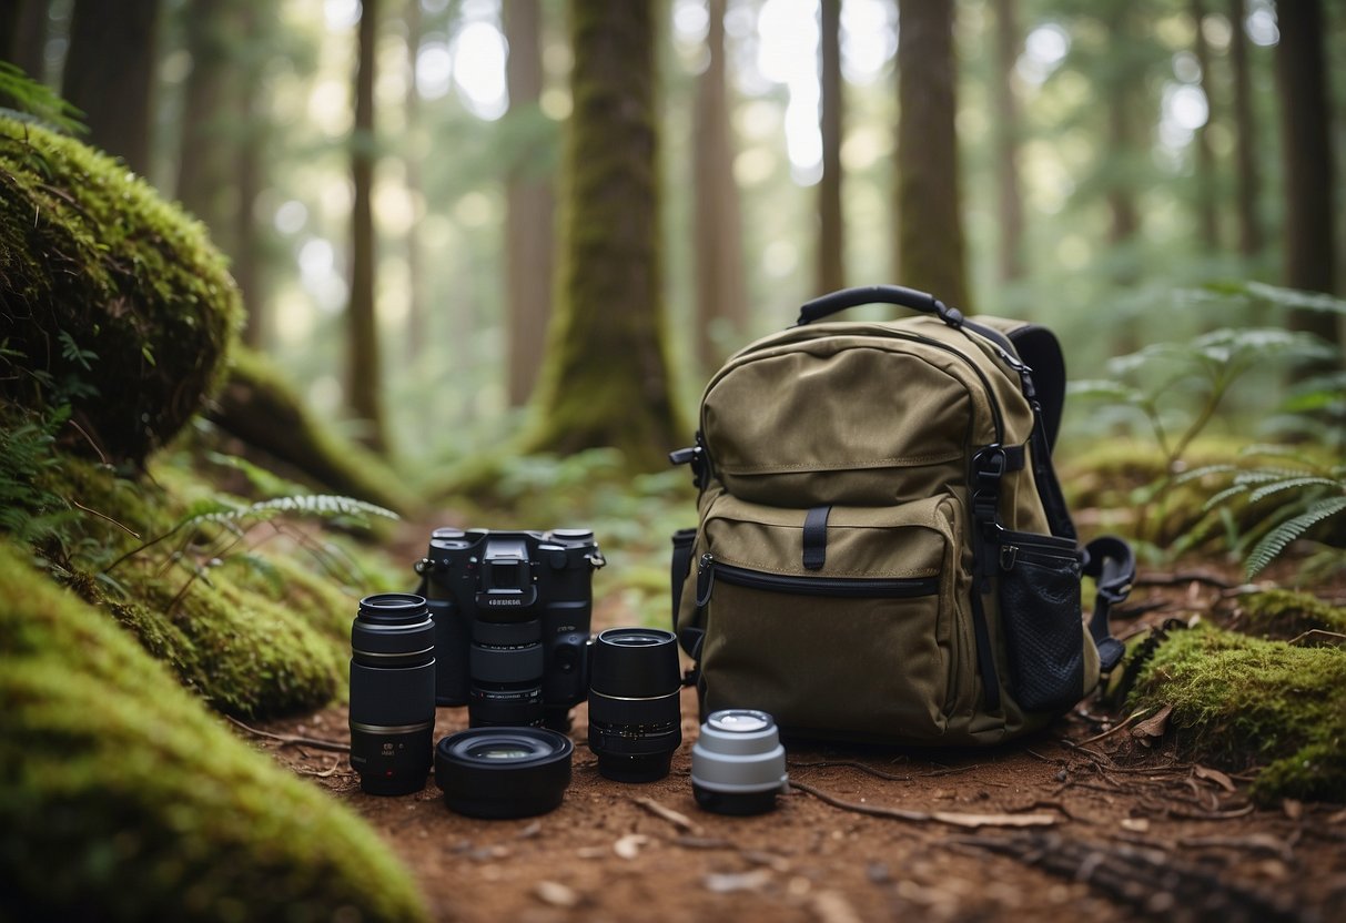
[[542, 623], [487, 622], [472, 624], [468, 655], [471, 690], [467, 717], [474, 728], [538, 727], [542, 724]]

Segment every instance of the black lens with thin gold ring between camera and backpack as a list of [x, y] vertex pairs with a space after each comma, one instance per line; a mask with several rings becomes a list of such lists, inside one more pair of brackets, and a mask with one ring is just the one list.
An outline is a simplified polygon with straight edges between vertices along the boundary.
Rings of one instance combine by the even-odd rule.
[[656, 782], [682, 743], [677, 639], [658, 628], [610, 628], [594, 643], [590, 749], [616, 782]]

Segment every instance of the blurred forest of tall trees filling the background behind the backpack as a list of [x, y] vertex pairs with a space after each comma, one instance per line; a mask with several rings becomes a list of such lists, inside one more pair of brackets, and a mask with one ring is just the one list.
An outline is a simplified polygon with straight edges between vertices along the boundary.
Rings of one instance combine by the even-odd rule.
[[[1339, 4], [595, 5], [649, 17], [647, 61], [614, 87], [643, 96], [602, 97], [608, 121], [569, 159], [576, 79], [606, 51], [577, 48], [561, 0], [8, 0], [0, 59], [197, 214], [233, 261], [248, 342], [411, 467], [503, 443], [530, 398], [542, 417], [563, 396], [621, 414], [555, 448], [622, 425], [664, 440], [723, 355], [837, 284], [1049, 323], [1075, 369], [1267, 322], [1256, 299], [1175, 311], [1175, 289], [1339, 292]], [[621, 133], [629, 106], [654, 148]], [[653, 187], [567, 211], [598, 160]], [[639, 265], [576, 249], [603, 234]], [[616, 272], [647, 285], [576, 293]], [[602, 358], [567, 366], [548, 330], [573, 330], [586, 299], [584, 355]], [[598, 338], [629, 326], [647, 332]], [[1296, 326], [1339, 343], [1329, 312]]]

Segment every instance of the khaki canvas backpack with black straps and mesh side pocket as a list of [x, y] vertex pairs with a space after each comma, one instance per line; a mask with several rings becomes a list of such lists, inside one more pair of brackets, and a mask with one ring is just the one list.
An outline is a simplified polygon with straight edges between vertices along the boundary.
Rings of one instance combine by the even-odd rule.
[[[828, 322], [891, 303], [923, 316]], [[707, 385], [700, 487], [673, 605], [703, 712], [793, 736], [995, 744], [1069, 710], [1121, 655], [1135, 573], [1079, 548], [1051, 466], [1055, 336], [930, 295], [852, 288], [732, 355]], [[1097, 580], [1088, 631], [1081, 577]]]

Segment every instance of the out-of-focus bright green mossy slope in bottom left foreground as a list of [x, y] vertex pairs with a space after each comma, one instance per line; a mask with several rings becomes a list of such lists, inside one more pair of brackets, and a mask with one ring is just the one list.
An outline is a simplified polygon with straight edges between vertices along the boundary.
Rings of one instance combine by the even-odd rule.
[[0, 916], [425, 916], [371, 830], [23, 558], [0, 542]]

